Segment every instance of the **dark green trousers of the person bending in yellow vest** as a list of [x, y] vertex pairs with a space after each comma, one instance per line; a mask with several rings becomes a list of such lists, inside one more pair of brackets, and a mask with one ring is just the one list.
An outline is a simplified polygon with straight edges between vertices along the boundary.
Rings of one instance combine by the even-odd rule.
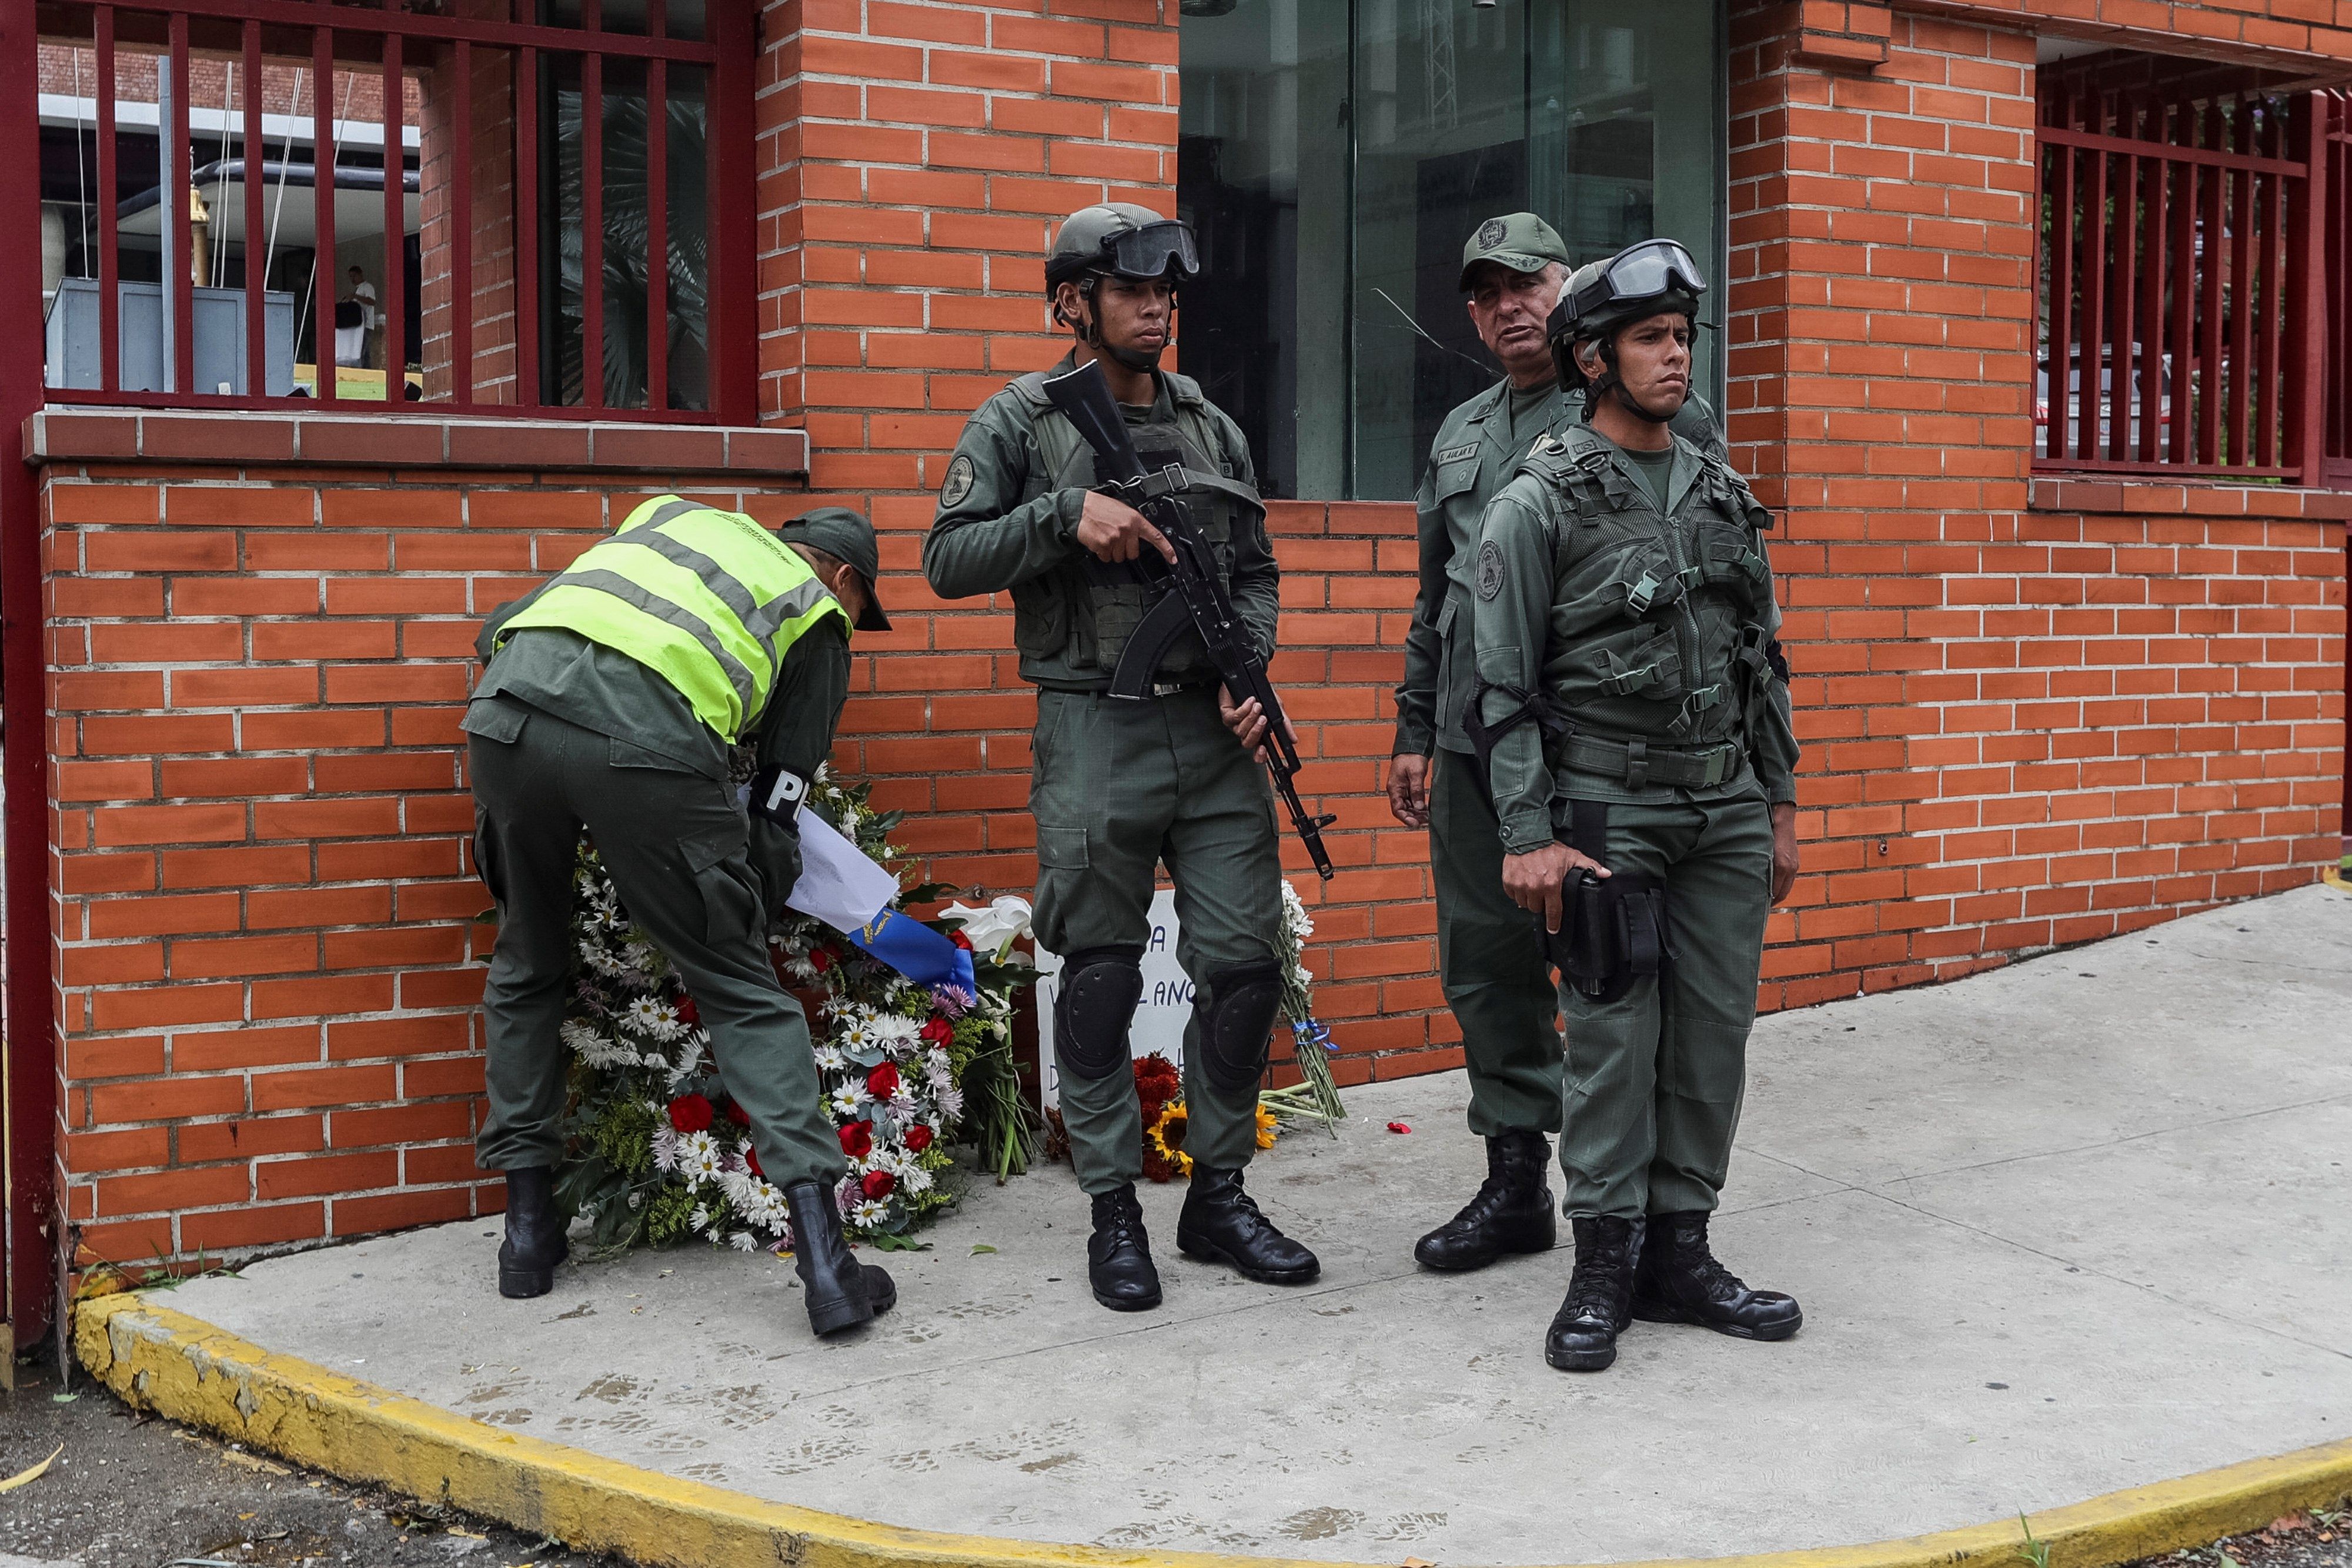
[[767, 912], [734, 790], [510, 698], [468, 708], [466, 729], [475, 867], [499, 900], [482, 987], [482, 1168], [553, 1166], [564, 1147], [557, 1025], [572, 987], [572, 875], [586, 827], [630, 919], [694, 997], [720, 1081], [750, 1117], [760, 1168], [779, 1187], [837, 1182], [849, 1166], [821, 1103], [809, 1020], [767, 961]]

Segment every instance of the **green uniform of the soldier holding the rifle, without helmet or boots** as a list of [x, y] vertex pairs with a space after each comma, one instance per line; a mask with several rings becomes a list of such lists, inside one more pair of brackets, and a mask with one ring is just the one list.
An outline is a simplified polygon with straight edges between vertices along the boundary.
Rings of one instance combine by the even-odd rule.
[[[1065, 357], [1056, 369], [1070, 369]], [[1185, 1025], [1185, 1152], [1237, 1171], [1256, 1150], [1263, 1027], [1218, 1053], [1202, 1018], [1221, 999], [1261, 994], [1277, 973], [1282, 870], [1272, 790], [1218, 719], [1216, 670], [1185, 635], [1160, 665], [1152, 701], [1105, 696], [1120, 649], [1150, 602], [1143, 578], [1077, 543], [1094, 454], [1021, 376], [971, 416], [938, 494], [922, 569], [948, 599], [1011, 592], [1021, 677], [1037, 686], [1030, 811], [1037, 818], [1037, 940], [1065, 957], [1150, 938], [1155, 863], [1176, 884], [1178, 961], [1192, 978]], [[1152, 371], [1150, 409], [1127, 409], [1150, 468], [1181, 461], [1183, 503], [1216, 541], [1225, 585], [1261, 654], [1272, 654], [1277, 569], [1240, 428], [1185, 376]], [[1157, 454], [1157, 456], [1155, 456]], [[1223, 997], [1221, 997], [1223, 992]], [[1131, 1011], [1134, 999], [1127, 999]], [[1061, 1020], [1061, 1016], [1058, 1016]], [[1265, 1013], [1270, 1023], [1270, 1011]], [[1056, 1027], [1061, 1114], [1089, 1194], [1143, 1171], [1143, 1128], [1124, 1058], [1073, 1051]], [[1254, 1056], [1249, 1056], [1254, 1051]]]

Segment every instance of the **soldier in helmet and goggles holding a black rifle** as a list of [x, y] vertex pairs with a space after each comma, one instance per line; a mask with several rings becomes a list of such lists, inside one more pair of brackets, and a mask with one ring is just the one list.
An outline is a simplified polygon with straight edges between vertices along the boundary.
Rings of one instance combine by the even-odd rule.
[[[1263, 654], [1275, 651], [1275, 557], [1249, 447], [1200, 386], [1160, 369], [1176, 284], [1197, 275], [1192, 230], [1148, 207], [1073, 212], [1047, 256], [1054, 322], [1077, 343], [1056, 369], [1103, 367], [1150, 468], [1216, 543], [1225, 588]], [[1094, 1199], [1087, 1279], [1117, 1312], [1160, 1305], [1136, 1178], [1143, 1126], [1127, 1030], [1143, 994], [1155, 865], [1176, 884], [1185, 1025], [1185, 1152], [1192, 1185], [1176, 1225], [1190, 1258], [1247, 1279], [1303, 1284], [1319, 1265], [1242, 1190], [1256, 1098], [1282, 997], [1282, 863], [1275, 806], [1251, 748], [1265, 719], [1235, 708], [1207, 649], [1185, 637], [1150, 701], [1105, 693], [1120, 649], [1157, 597], [1138, 552], [1174, 559], [1141, 512], [1091, 489], [1091, 449], [1021, 376], [964, 425], [924, 538], [922, 569], [948, 599], [1011, 592], [1021, 677], [1037, 686], [1030, 811], [1037, 818], [1037, 940], [1063, 957], [1054, 1001], [1061, 1114]]]

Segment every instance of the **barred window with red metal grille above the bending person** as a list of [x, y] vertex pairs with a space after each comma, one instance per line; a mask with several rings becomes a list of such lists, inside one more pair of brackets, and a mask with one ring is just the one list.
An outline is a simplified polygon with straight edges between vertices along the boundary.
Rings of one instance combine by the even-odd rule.
[[[38, 19], [92, 66], [52, 400], [750, 421], [746, 0], [42, 0]], [[353, 158], [355, 101], [381, 167]], [[125, 200], [136, 103], [160, 174]], [[193, 167], [195, 141], [216, 158]], [[339, 223], [381, 237], [376, 334], [348, 327], [367, 310], [339, 296]], [[374, 369], [346, 369], [339, 336]]]

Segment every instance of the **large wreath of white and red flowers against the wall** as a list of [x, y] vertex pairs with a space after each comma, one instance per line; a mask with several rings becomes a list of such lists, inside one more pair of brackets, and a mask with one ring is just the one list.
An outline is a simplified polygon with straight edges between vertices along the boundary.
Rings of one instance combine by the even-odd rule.
[[[889, 844], [898, 813], [870, 811], [866, 785], [844, 788], [821, 769], [809, 809], [880, 865], [903, 860]], [[590, 1218], [602, 1248], [701, 1237], [790, 1251], [783, 1192], [727, 1098], [694, 999], [630, 924], [588, 844], [576, 889], [579, 983], [562, 1025], [574, 1051], [572, 1154], [557, 1197]], [[908, 889], [898, 905], [943, 893]], [[1035, 1117], [1014, 1074], [1011, 1011], [1033, 971], [1004, 943], [974, 952], [976, 994], [924, 987], [833, 929], [781, 914], [769, 959], [809, 1009], [826, 1112], [849, 1164], [835, 1187], [842, 1227], [884, 1251], [915, 1246], [913, 1232], [955, 1201], [948, 1145], [978, 1145], [1000, 1180], [1028, 1164]]]

